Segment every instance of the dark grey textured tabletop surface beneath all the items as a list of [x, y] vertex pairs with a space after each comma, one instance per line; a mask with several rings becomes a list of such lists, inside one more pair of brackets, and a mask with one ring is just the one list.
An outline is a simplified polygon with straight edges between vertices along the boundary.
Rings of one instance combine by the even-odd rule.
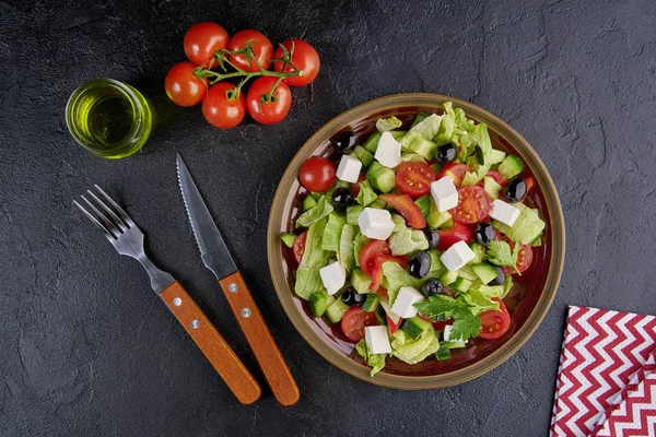
[[[539, 436], [566, 306], [656, 312], [653, 1], [54, 3], [0, 2], [0, 435]], [[284, 122], [219, 131], [199, 108], [166, 102], [184, 32], [207, 20], [317, 48], [321, 72], [294, 90]], [[155, 103], [161, 126], [143, 153], [103, 161], [69, 135], [67, 98], [97, 76]], [[352, 378], [305, 344], [276, 298], [266, 226], [286, 164], [317, 128], [370, 98], [421, 91], [469, 99], [534, 145], [561, 196], [567, 258], [551, 310], [515, 356], [459, 387], [402, 392]], [[239, 405], [141, 267], [71, 206], [95, 182], [118, 198], [154, 260], [255, 370], [200, 262], [176, 152], [297, 378], [294, 408], [268, 392]]]

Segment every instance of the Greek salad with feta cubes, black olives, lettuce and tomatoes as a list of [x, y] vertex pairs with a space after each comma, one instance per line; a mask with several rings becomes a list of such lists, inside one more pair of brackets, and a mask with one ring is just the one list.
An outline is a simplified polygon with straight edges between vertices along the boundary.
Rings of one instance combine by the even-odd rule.
[[296, 232], [294, 291], [339, 324], [372, 367], [448, 359], [513, 322], [504, 297], [531, 264], [544, 222], [524, 204], [524, 162], [450, 103], [403, 129], [380, 118], [366, 138], [341, 132], [335, 161], [313, 156]]

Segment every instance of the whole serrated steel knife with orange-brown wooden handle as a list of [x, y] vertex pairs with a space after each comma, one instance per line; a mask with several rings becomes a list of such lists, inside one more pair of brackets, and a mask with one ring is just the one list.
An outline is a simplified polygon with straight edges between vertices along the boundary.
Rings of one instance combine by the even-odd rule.
[[221, 290], [244, 331], [246, 341], [250, 345], [273, 395], [281, 405], [293, 405], [300, 397], [294, 377], [276, 345], [276, 341], [179, 153], [176, 162], [183, 200], [189, 222], [191, 222], [196, 243], [200, 248], [202, 262], [219, 280]]

